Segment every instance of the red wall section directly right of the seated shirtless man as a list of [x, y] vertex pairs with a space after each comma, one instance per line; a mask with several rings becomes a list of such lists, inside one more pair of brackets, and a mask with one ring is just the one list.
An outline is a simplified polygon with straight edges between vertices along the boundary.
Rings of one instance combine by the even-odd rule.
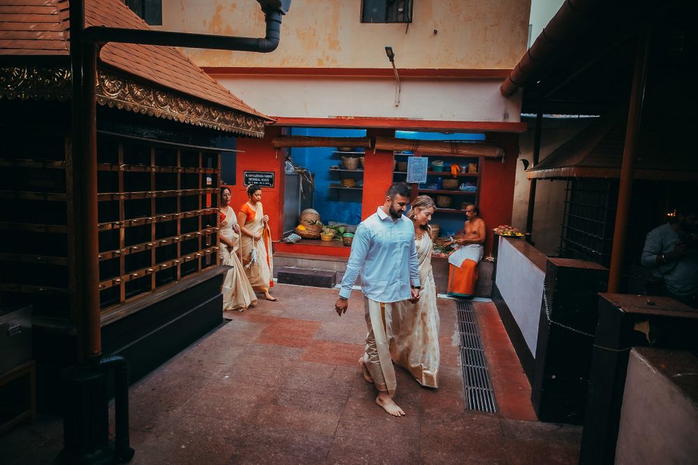
[[519, 157], [519, 135], [498, 132], [488, 134], [487, 142], [495, 142], [504, 149], [504, 162], [500, 158], [485, 158], [480, 169], [480, 214], [487, 224], [485, 253], [492, 250], [492, 229], [500, 224], [512, 224], [514, 208], [514, 183]]

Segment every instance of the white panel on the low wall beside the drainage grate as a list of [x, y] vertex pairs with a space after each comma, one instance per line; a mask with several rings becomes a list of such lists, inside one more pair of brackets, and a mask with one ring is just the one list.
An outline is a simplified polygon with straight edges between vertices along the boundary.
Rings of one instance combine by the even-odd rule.
[[543, 300], [545, 273], [509, 241], [499, 238], [497, 252], [497, 288], [519, 325], [523, 339], [535, 358], [540, 304]]

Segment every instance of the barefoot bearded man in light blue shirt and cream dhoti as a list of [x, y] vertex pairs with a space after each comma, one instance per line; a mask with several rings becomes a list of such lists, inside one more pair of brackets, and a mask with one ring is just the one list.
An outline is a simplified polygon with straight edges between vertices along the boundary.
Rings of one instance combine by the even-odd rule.
[[403, 215], [410, 189], [394, 183], [385, 193], [383, 206], [356, 229], [346, 273], [334, 308], [341, 317], [348, 307], [351, 289], [361, 277], [364, 314], [369, 333], [364, 356], [359, 358], [364, 379], [378, 388], [376, 404], [392, 416], [405, 412], [395, 404], [395, 370], [385, 335], [385, 317], [391, 303], [419, 300], [419, 262], [413, 222]]

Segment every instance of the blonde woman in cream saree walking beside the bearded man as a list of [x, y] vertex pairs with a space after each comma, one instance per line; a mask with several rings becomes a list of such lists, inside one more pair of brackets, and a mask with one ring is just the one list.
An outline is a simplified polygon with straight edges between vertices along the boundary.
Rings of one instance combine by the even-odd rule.
[[431, 236], [429, 220], [436, 205], [428, 195], [420, 195], [413, 202], [408, 218], [415, 225], [415, 245], [419, 261], [419, 301], [396, 302], [386, 316], [390, 356], [414, 376], [422, 386], [438, 388], [439, 317], [436, 307], [436, 284], [431, 270]]

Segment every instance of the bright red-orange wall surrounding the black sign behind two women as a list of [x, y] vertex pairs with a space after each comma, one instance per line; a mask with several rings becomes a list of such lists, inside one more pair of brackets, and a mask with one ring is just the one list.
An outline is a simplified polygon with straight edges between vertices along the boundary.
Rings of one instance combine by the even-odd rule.
[[272, 139], [281, 135], [281, 128], [266, 128], [264, 139], [240, 137], [237, 139], [237, 154], [235, 185], [230, 186], [232, 193], [231, 205], [239, 210], [247, 200], [247, 188], [243, 185], [244, 171], [274, 171], [274, 187], [262, 188], [262, 206], [265, 214], [269, 215], [269, 229], [272, 230], [272, 240], [278, 241], [283, 234], [283, 153], [272, 147]]

